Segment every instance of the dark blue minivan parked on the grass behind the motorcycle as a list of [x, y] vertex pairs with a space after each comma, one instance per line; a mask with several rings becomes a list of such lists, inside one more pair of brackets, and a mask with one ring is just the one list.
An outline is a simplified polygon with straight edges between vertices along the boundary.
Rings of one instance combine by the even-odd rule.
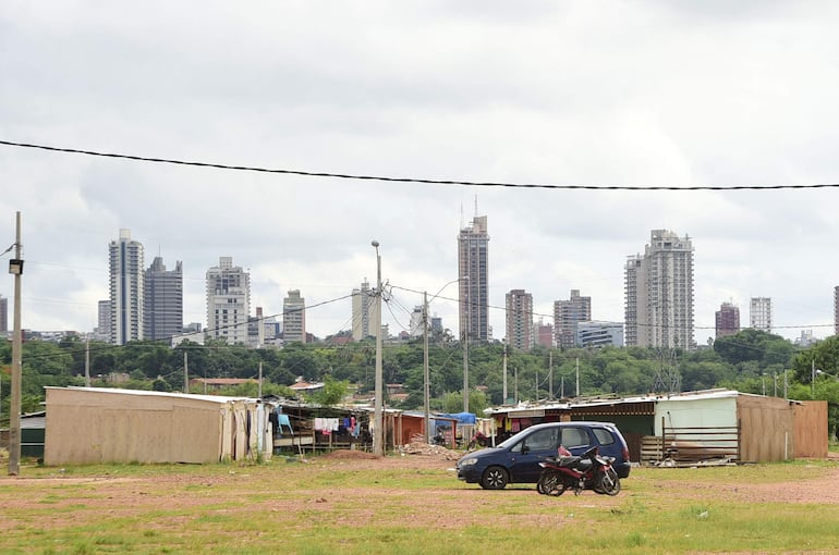
[[458, 479], [479, 483], [485, 490], [500, 490], [508, 483], [536, 483], [545, 457], [557, 455], [559, 446], [581, 455], [597, 445], [600, 454], [615, 457], [620, 478], [630, 473], [627, 441], [611, 422], [548, 422], [522, 430], [495, 447], [467, 453], [458, 460]]

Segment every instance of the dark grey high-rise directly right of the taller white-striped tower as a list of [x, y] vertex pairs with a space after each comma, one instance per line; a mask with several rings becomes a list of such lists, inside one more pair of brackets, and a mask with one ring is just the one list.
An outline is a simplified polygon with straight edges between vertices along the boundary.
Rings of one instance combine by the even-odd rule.
[[155, 257], [143, 281], [143, 337], [171, 340], [183, 333], [183, 266], [167, 270]]

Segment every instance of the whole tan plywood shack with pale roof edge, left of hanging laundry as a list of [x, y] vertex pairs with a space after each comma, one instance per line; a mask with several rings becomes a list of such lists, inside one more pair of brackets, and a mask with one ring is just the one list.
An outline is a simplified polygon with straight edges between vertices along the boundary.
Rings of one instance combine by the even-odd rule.
[[263, 399], [100, 387], [46, 387], [46, 465], [270, 458]]

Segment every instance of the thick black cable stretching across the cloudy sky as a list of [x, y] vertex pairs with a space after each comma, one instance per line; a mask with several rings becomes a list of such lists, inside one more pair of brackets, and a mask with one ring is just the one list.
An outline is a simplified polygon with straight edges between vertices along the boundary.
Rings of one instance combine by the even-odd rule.
[[0, 140], [0, 145], [9, 147], [33, 148], [50, 152], [65, 152], [72, 155], [95, 156], [101, 158], [115, 158], [133, 160], [135, 162], [154, 162], [177, 165], [191, 165], [196, 168], [211, 168], [216, 170], [233, 170], [242, 172], [275, 173], [283, 175], [301, 175], [304, 177], [336, 177], [340, 180], [380, 181], [391, 183], [422, 183], [427, 185], [463, 185], [473, 187], [511, 187], [511, 188], [539, 188], [564, 190], [778, 190], [778, 189], [818, 189], [839, 188], [839, 183], [811, 183], [811, 184], [782, 184], [782, 185], [558, 185], [550, 183], [506, 183], [506, 182], [474, 182], [460, 180], [428, 180], [422, 177], [392, 177], [384, 175], [360, 175], [350, 173], [315, 172], [304, 170], [285, 170], [275, 168], [260, 168], [255, 165], [232, 165], [217, 162], [198, 162], [194, 160], [178, 160], [173, 158], [154, 158], [145, 156], [124, 155], [119, 152], [100, 152], [97, 150], [84, 150], [80, 148], [51, 147], [35, 145], [32, 143], [16, 143]]

